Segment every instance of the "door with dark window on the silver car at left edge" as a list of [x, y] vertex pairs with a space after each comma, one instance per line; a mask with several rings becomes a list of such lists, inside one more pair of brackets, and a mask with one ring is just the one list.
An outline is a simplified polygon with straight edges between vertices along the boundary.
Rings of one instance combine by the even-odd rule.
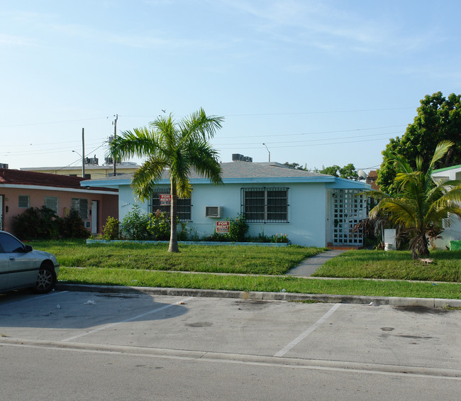
[[38, 275], [37, 260], [21, 241], [8, 233], [0, 233], [0, 245], [9, 265], [5, 288], [27, 287], [35, 284]]

